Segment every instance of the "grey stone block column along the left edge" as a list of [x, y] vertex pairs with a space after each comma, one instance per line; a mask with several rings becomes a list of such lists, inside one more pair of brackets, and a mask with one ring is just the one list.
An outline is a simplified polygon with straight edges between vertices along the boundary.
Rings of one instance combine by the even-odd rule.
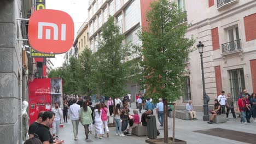
[[0, 1], [0, 140], [1, 143], [22, 143], [21, 131], [21, 87], [22, 41], [20, 22], [20, 1]]

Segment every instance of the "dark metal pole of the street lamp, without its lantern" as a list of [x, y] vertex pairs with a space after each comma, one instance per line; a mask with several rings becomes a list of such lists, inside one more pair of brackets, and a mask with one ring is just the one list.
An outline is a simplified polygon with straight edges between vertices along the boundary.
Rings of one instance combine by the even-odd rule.
[[207, 95], [205, 92], [205, 73], [203, 72], [203, 58], [202, 53], [200, 53], [201, 57], [201, 69], [202, 69], [202, 86], [203, 86], [203, 121], [209, 121], [209, 114], [208, 114], [208, 101]]

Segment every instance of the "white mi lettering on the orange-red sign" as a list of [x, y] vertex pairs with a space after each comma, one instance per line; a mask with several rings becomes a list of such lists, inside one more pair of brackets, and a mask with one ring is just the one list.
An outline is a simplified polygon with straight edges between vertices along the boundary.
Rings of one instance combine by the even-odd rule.
[[[38, 39], [43, 39], [43, 27], [53, 27], [54, 30], [54, 40], [59, 38], [59, 28], [55, 23], [51, 22], [38, 22]], [[51, 29], [45, 29], [45, 39], [51, 39]], [[66, 40], [66, 24], [61, 24], [61, 40]]]

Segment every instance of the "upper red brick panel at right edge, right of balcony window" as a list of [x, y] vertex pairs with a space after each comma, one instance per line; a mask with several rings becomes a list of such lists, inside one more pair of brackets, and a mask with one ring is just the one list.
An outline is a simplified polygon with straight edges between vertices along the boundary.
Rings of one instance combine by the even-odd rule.
[[243, 17], [245, 22], [246, 41], [256, 39], [256, 13]]

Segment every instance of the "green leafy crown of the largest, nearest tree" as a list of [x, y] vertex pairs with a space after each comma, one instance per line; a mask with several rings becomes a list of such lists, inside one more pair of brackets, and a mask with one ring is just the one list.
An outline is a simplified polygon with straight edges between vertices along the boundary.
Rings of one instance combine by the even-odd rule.
[[154, 1], [147, 12], [148, 27], [138, 34], [142, 40], [144, 67], [141, 81], [147, 95], [174, 101], [183, 94], [183, 76], [194, 39], [185, 38], [186, 15], [169, 0]]

